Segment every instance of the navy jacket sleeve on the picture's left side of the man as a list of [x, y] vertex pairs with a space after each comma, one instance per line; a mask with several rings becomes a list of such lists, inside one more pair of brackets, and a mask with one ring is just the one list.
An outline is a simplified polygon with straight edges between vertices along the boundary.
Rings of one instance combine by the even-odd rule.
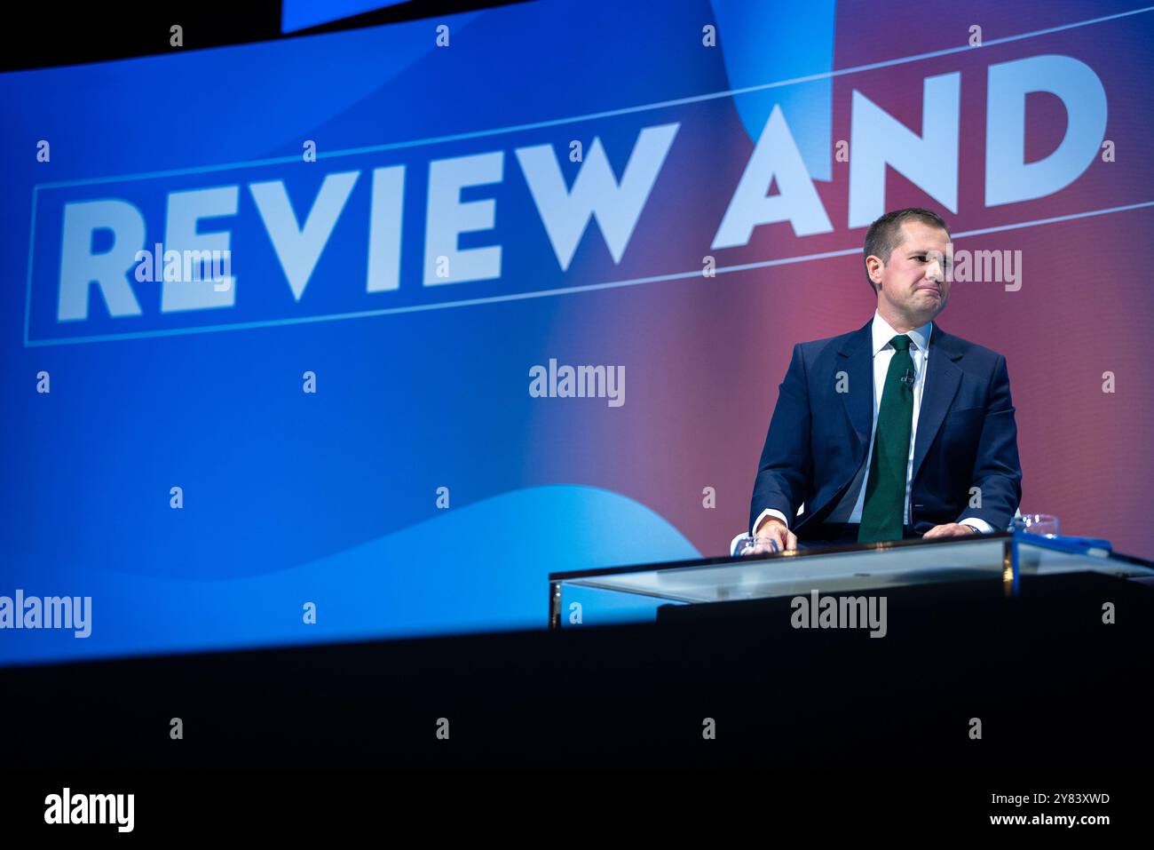
[[814, 470], [810, 416], [805, 363], [801, 345], [794, 345], [789, 370], [778, 387], [778, 402], [754, 482], [750, 527], [766, 509], [779, 510], [792, 519], [805, 500]]

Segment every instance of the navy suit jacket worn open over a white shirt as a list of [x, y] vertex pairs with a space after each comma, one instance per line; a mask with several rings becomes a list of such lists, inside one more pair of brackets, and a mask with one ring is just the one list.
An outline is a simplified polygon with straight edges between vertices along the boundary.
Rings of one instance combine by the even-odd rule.
[[[850, 334], [794, 345], [754, 483], [750, 525], [773, 508], [790, 517], [790, 530], [805, 539], [865, 463], [874, 426], [871, 325], [872, 318]], [[1006, 360], [935, 323], [927, 368], [914, 440], [911, 524], [921, 535], [977, 516], [1002, 531], [1021, 500]], [[848, 392], [838, 392], [840, 379]], [[972, 487], [980, 487], [980, 507], [971, 507]], [[795, 516], [802, 504], [804, 513]]]

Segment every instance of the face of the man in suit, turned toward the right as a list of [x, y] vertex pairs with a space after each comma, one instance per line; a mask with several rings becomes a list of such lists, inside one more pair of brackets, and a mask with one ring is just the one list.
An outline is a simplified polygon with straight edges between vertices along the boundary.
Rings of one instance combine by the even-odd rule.
[[885, 301], [889, 312], [915, 325], [924, 325], [945, 310], [950, 300], [950, 282], [945, 279], [949, 241], [950, 234], [941, 228], [905, 222], [890, 261], [870, 263], [871, 279], [881, 286], [879, 306]]

